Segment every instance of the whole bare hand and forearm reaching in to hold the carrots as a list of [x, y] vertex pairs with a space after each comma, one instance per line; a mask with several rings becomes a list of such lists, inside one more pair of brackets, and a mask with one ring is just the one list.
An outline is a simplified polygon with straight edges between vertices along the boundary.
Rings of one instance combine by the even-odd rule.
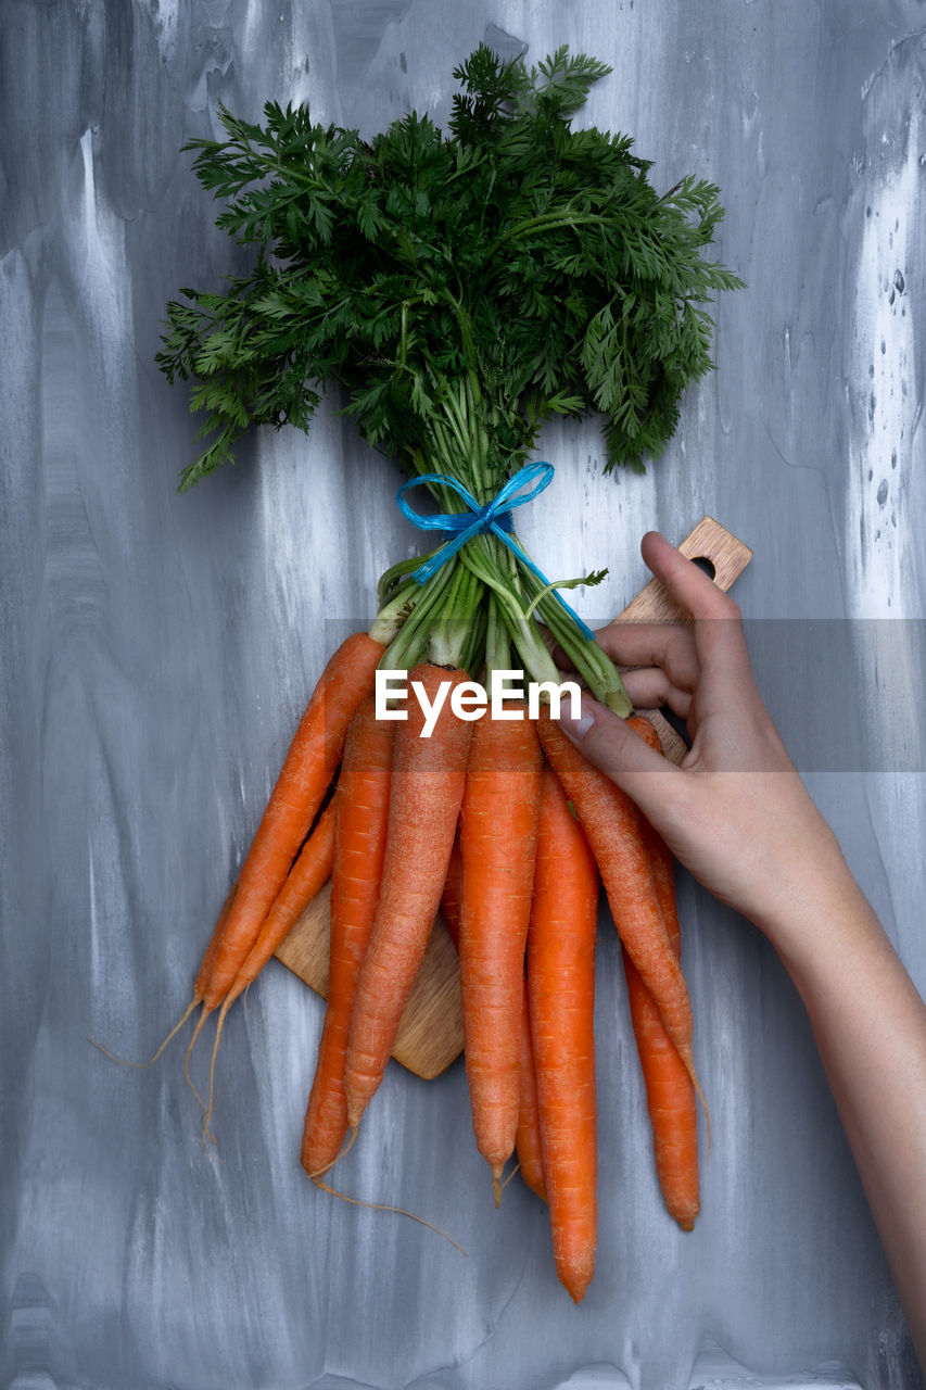
[[926, 1008], [791, 763], [752, 678], [737, 605], [662, 537], [642, 556], [694, 626], [596, 634], [634, 705], [687, 720], [676, 767], [603, 705], [560, 727], [677, 859], [766, 933], [808, 1009], [876, 1226], [926, 1366]]

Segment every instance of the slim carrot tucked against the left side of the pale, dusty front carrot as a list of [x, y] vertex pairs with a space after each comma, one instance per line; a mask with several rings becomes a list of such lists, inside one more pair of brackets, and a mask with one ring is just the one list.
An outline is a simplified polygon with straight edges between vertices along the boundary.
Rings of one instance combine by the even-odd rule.
[[348, 1133], [343, 1072], [350, 1008], [380, 892], [393, 734], [395, 723], [378, 723], [374, 701], [364, 701], [350, 724], [332, 803], [328, 1008], [302, 1137], [302, 1166], [310, 1176], [334, 1162]]

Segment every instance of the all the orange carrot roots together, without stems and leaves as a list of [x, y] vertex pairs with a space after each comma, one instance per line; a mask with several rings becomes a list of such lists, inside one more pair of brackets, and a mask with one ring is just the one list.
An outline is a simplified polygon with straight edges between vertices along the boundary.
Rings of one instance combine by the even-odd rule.
[[[327, 1187], [382, 1080], [442, 908], [496, 1205], [517, 1151], [549, 1204], [558, 1276], [578, 1301], [596, 1245], [599, 876], [622, 937], [665, 1201], [685, 1230], [698, 1213], [699, 1090], [672, 858], [545, 708], [538, 720], [473, 723], [445, 699], [430, 738], [414, 702], [403, 721], [377, 720], [385, 651], [355, 632], [328, 662], [206, 949], [188, 1009], [202, 1009], [190, 1051], [218, 1011], [206, 1133], [225, 1015], [330, 878], [330, 997], [302, 1140], [303, 1168]], [[439, 682], [470, 677], [425, 662], [409, 678], [434, 701]], [[659, 746], [645, 719], [630, 723]]]

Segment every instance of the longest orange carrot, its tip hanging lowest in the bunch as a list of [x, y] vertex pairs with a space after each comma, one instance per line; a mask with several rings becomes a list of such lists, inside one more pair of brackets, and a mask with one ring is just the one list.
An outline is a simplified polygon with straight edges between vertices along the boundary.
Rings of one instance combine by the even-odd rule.
[[546, 766], [527, 937], [527, 988], [553, 1259], [576, 1302], [595, 1272], [598, 1238], [596, 923], [595, 860]]

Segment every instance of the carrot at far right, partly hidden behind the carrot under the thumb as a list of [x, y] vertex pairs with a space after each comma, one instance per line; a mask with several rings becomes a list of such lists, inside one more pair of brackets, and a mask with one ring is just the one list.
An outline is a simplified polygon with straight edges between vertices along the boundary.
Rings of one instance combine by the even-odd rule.
[[[659, 735], [645, 720], [628, 720], [651, 748], [660, 751]], [[662, 835], [640, 817], [649, 855], [656, 898], [676, 955], [681, 951], [681, 926], [676, 908], [673, 858]], [[662, 1024], [640, 972], [623, 951], [630, 1016], [640, 1052], [647, 1108], [652, 1125], [656, 1175], [666, 1208], [683, 1230], [691, 1230], [701, 1208], [698, 1193], [698, 1101], [691, 1077]]]

